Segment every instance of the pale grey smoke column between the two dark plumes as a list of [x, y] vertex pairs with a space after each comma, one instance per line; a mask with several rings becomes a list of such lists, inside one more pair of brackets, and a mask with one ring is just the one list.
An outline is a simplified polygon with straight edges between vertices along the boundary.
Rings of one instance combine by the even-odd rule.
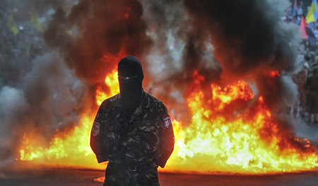
[[206, 85], [218, 80], [220, 63], [213, 56], [213, 46], [207, 32], [189, 24], [189, 14], [183, 1], [141, 0], [143, 18], [150, 25], [148, 35], [153, 47], [146, 55], [148, 91], [163, 100], [177, 120], [187, 123], [187, 92], [191, 92], [194, 70], [206, 77]]

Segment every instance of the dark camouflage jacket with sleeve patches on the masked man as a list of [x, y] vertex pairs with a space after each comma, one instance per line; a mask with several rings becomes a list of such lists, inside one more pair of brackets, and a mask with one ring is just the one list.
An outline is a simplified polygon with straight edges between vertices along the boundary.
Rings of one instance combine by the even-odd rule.
[[120, 94], [100, 105], [90, 133], [90, 147], [98, 163], [155, 162], [164, 167], [175, 144], [172, 123], [163, 102], [143, 92], [141, 104], [128, 118], [119, 105]]

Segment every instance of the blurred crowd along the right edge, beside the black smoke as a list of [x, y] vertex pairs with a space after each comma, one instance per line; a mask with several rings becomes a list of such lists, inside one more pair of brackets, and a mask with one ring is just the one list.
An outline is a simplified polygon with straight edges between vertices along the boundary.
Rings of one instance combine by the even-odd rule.
[[[305, 6], [303, 1], [295, 0], [286, 9], [283, 20], [286, 23], [299, 25], [300, 32], [306, 32], [305, 35], [300, 35], [303, 39], [299, 47], [302, 69], [293, 74], [293, 81], [298, 86], [299, 101], [290, 112], [295, 117], [304, 118], [307, 123], [318, 123], [318, 19], [310, 20], [310, 23], [305, 19], [311, 13], [311, 6], [311, 4]], [[305, 30], [301, 30], [302, 26], [305, 26]]]

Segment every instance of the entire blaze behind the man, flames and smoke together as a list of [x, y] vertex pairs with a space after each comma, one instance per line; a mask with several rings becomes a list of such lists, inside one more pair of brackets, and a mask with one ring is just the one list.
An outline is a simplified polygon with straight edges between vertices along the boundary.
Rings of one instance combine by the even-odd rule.
[[58, 1], [47, 17], [43, 5], [46, 29], [36, 35], [45, 50], [27, 70], [14, 66], [23, 74], [14, 80], [1, 74], [1, 138], [9, 140], [0, 148], [22, 161], [93, 168], [93, 117], [119, 92], [117, 62], [134, 55], [145, 61], [146, 91], [175, 118], [165, 170], [316, 168], [317, 147], [294, 135], [284, 111], [296, 97], [289, 74], [298, 41], [274, 1]]

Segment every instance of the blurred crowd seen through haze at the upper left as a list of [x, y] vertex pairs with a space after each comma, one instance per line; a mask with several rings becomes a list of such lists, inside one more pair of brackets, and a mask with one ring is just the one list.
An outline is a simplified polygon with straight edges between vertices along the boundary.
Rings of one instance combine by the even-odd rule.
[[18, 11], [0, 8], [0, 87], [16, 87], [32, 68], [31, 61], [45, 51], [42, 32], [26, 20], [15, 20]]

